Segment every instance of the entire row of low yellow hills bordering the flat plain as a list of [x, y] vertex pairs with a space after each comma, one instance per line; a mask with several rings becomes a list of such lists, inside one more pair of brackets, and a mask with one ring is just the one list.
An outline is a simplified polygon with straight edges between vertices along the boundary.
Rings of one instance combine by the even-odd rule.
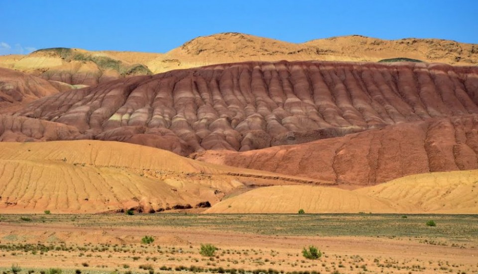
[[[448, 213], [478, 211], [478, 171], [415, 174], [346, 190], [304, 177], [203, 163], [96, 140], [0, 142], [3, 213]], [[322, 186], [323, 185], [323, 186]], [[329, 185], [329, 186], [327, 186]]]

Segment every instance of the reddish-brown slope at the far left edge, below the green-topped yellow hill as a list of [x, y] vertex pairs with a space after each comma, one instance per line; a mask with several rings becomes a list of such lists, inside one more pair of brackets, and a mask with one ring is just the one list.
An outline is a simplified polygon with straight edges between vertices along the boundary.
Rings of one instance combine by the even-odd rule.
[[41, 78], [0, 68], [0, 113], [58, 92], [57, 87]]

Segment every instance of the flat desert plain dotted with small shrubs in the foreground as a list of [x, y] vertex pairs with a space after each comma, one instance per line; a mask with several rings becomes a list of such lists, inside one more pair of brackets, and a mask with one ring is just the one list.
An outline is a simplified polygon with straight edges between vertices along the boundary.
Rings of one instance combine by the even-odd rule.
[[[426, 225], [434, 220], [435, 227]], [[152, 244], [142, 244], [149, 235]], [[199, 254], [201, 244], [218, 248]], [[323, 256], [305, 259], [314, 245]], [[478, 215], [4, 215], [12, 273], [478, 273]]]

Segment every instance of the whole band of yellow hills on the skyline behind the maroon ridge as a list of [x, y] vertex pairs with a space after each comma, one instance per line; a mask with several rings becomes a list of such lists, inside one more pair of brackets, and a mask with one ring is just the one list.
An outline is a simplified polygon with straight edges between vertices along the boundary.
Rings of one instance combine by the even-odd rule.
[[0, 67], [72, 85], [96, 85], [220, 63], [245, 61], [366, 61], [409, 58], [451, 65], [477, 65], [478, 45], [440, 39], [381, 40], [360, 35], [289, 43], [242, 33], [197, 37], [166, 53], [41, 49], [0, 56]]

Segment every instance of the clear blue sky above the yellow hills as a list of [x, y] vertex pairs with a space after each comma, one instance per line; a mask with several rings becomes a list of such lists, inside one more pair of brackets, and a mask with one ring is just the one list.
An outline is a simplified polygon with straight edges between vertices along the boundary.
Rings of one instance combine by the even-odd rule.
[[296, 43], [350, 34], [478, 43], [477, 14], [477, 0], [0, 0], [0, 55], [166, 52], [230, 31]]

